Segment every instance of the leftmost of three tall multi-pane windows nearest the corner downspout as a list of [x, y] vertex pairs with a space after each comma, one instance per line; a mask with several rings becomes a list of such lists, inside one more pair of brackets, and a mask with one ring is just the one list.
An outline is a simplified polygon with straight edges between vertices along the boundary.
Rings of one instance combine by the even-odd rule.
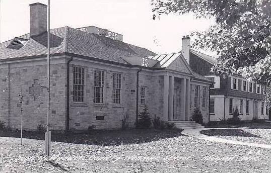
[[74, 102], [84, 102], [85, 68], [73, 67], [74, 73]]

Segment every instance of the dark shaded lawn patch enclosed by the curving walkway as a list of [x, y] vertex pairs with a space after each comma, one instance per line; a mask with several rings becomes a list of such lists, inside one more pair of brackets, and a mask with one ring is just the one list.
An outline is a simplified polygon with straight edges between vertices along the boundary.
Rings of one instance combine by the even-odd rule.
[[246, 132], [242, 129], [209, 129], [200, 131], [201, 134], [208, 136], [241, 136], [241, 137], [256, 137], [261, 138], [258, 135]]

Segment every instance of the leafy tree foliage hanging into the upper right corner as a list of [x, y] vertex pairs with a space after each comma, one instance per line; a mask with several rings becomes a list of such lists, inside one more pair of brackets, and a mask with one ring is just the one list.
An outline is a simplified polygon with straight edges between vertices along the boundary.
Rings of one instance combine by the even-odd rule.
[[236, 72], [266, 86], [265, 100], [271, 106], [270, 0], [152, 0], [152, 5], [153, 19], [169, 13], [215, 18], [209, 30], [191, 34], [195, 37], [191, 46], [218, 53], [212, 68], [217, 74]]

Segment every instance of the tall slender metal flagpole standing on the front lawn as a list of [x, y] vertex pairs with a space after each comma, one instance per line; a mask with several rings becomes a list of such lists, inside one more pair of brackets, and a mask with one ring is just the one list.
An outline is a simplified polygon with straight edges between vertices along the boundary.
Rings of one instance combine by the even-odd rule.
[[47, 142], [46, 142], [46, 156], [49, 157], [50, 154], [50, 0], [48, 0], [47, 7], [47, 44], [48, 44], [48, 54], [47, 54], [47, 91], [48, 91], [48, 101], [47, 101]]

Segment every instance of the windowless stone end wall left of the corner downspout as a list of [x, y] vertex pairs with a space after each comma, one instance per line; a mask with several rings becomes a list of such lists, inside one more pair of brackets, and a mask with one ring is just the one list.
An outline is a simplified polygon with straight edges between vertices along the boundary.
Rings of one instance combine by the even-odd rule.
[[[23, 129], [36, 130], [47, 123], [46, 61], [2, 64], [0, 120], [6, 127], [21, 127], [19, 93], [23, 95]], [[51, 65], [51, 129], [65, 124], [65, 63]], [[9, 99], [10, 98], [10, 99]]]

